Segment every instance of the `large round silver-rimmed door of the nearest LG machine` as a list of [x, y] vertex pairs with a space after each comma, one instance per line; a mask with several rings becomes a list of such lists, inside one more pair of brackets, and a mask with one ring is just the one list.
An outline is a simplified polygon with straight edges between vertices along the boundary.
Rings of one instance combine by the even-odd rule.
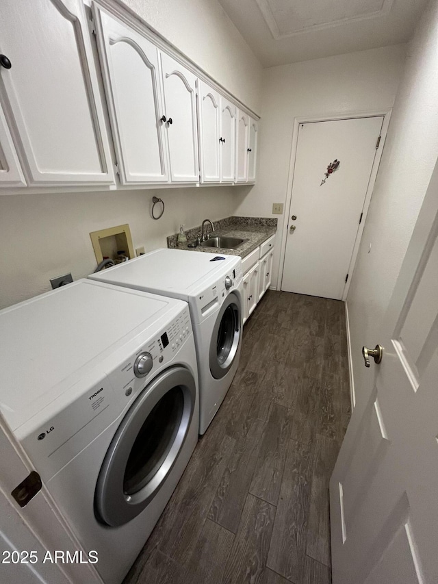
[[196, 383], [183, 367], [168, 369], [146, 385], [103, 460], [94, 494], [100, 522], [123, 525], [151, 503], [184, 444], [195, 401]]

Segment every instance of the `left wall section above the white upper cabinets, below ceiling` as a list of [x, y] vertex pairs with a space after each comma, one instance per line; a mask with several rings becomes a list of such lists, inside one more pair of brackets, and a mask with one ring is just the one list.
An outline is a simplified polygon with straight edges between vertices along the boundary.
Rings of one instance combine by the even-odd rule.
[[123, 0], [259, 114], [261, 64], [217, 0]]

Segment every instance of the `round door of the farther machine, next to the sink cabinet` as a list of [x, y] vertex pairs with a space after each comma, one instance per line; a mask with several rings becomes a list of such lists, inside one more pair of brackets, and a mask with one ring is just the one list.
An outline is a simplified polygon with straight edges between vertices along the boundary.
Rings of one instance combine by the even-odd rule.
[[232, 292], [220, 307], [211, 333], [209, 360], [210, 371], [215, 379], [224, 377], [233, 365], [240, 344], [241, 322], [240, 299]]

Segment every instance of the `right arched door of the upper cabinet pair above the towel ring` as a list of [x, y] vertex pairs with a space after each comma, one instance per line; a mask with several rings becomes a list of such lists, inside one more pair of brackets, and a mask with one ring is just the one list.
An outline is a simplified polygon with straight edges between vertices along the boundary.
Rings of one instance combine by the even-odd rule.
[[165, 129], [173, 182], [199, 181], [196, 77], [166, 53], [161, 53]]

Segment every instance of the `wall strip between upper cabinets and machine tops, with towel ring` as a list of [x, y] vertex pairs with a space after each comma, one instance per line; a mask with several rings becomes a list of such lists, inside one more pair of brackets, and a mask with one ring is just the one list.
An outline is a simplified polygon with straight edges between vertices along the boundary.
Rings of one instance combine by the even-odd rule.
[[[125, 192], [19, 194], [0, 197], [0, 308], [51, 290], [50, 278], [73, 279], [96, 268], [90, 231], [129, 223], [134, 249], [166, 247], [166, 237], [235, 214], [241, 187]], [[166, 208], [151, 218], [152, 197]], [[156, 207], [155, 212], [159, 210]]]

